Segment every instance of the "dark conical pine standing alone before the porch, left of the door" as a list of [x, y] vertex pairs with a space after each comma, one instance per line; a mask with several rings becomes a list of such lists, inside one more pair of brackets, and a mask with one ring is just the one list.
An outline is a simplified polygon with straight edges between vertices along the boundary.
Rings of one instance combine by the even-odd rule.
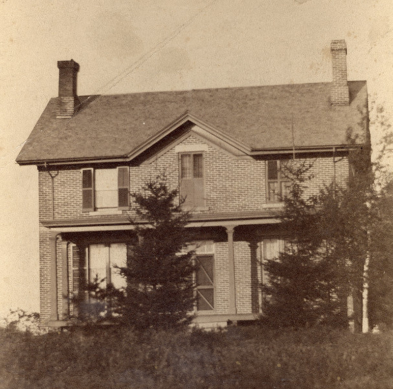
[[196, 270], [194, 253], [187, 251], [189, 213], [181, 209], [179, 191], [169, 190], [165, 175], [131, 196], [144, 224], [135, 223], [138, 242], [129, 249], [127, 266], [119, 268], [127, 281], [120, 320], [136, 329], [186, 326], [193, 319]]

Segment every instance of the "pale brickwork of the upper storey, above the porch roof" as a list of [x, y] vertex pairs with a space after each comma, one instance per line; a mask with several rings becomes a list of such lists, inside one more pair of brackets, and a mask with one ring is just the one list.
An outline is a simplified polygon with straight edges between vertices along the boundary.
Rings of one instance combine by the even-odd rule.
[[[200, 144], [191, 135], [182, 144]], [[332, 182], [336, 174], [338, 185], [345, 185], [348, 177], [346, 158], [309, 158], [313, 164], [309, 173], [314, 179], [305, 195], [316, 193], [323, 184]], [[297, 160], [296, 164], [303, 161]], [[204, 152], [205, 199], [210, 212], [252, 211], [263, 209], [266, 203], [266, 162], [260, 159], [240, 159], [228, 155], [223, 150], [209, 146]], [[130, 167], [130, 191], [139, 191], [148, 179], [154, 179], [165, 172], [169, 186], [179, 185], [179, 157], [174, 149], [168, 150], [149, 164]], [[40, 220], [52, 219], [52, 182], [54, 185], [55, 219], [94, 217], [82, 211], [82, 174], [80, 169], [51, 171], [53, 181], [47, 171], [39, 172], [39, 212]]]

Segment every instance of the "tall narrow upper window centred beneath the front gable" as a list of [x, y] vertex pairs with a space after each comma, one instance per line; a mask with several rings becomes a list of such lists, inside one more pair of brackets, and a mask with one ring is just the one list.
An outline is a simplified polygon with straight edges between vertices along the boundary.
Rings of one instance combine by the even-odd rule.
[[185, 208], [203, 207], [203, 154], [180, 154], [180, 194]]

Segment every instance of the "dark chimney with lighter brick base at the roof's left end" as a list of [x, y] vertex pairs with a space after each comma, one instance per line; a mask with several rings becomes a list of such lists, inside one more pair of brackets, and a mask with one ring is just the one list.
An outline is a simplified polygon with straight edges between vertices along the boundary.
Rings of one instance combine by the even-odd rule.
[[79, 106], [77, 73], [79, 64], [74, 60], [57, 61], [59, 69], [56, 118], [71, 118]]

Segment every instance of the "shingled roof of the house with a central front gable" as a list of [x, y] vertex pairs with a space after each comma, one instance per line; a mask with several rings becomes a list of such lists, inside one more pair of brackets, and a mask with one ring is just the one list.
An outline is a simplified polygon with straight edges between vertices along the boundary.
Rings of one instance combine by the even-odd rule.
[[348, 86], [346, 106], [330, 104], [331, 83], [80, 96], [71, 119], [56, 119], [52, 98], [17, 162], [132, 159], [186, 117], [250, 154], [345, 146], [348, 128], [365, 139], [367, 106], [365, 81]]

